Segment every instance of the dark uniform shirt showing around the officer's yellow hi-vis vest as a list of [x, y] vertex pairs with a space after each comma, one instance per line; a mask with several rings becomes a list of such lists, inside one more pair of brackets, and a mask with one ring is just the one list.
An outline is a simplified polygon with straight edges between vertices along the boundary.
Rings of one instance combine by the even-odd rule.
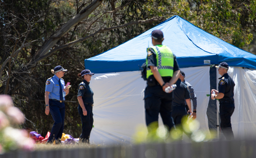
[[[157, 60], [156, 60], [156, 53], [154, 51], [154, 49], [152, 48], [149, 48], [149, 51], [151, 51], [152, 53], [148, 53], [147, 55], [147, 65], [148, 65], [148, 68], [150, 68], [150, 66], [157, 66]], [[180, 70], [180, 67], [178, 65], [178, 62], [176, 60], [176, 56], [173, 54], [173, 72], [177, 71], [177, 70]], [[172, 77], [162, 77], [163, 78], [163, 81], [166, 83], [166, 82], [169, 82], [170, 79]]]

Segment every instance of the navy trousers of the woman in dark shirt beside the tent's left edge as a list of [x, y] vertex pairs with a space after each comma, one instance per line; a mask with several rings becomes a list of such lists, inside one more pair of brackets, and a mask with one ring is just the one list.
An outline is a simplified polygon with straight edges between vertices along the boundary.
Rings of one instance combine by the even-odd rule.
[[82, 142], [88, 142], [90, 138], [91, 130], [93, 127], [93, 113], [91, 104], [84, 103], [85, 109], [87, 111], [87, 115], [83, 115], [83, 109], [80, 105], [78, 105], [78, 113], [81, 117], [82, 122], [82, 133], [79, 137]]

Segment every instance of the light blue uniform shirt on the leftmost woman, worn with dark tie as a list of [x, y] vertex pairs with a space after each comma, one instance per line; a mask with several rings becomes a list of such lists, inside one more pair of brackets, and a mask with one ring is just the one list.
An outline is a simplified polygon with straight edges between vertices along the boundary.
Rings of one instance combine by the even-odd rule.
[[59, 85], [59, 78], [54, 75], [51, 78], [48, 78], [46, 81], [46, 86], [45, 86], [45, 92], [50, 92], [49, 94], [49, 99], [56, 99], [60, 100], [60, 86], [62, 87], [62, 95], [63, 95], [63, 100], [65, 100], [66, 92], [63, 90], [65, 88], [65, 81], [60, 78], [61, 85]]

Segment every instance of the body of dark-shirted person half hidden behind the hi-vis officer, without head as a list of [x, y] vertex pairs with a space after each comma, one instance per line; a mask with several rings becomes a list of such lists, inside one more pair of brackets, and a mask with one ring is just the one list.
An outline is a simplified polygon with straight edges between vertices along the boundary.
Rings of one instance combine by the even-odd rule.
[[[181, 124], [183, 116], [187, 115], [185, 100], [188, 105], [188, 112], [193, 113], [191, 110], [190, 93], [186, 83], [182, 82], [180, 78], [176, 82], [177, 87], [173, 91], [173, 112], [172, 117], [175, 125]], [[184, 100], [185, 98], [185, 100]]]

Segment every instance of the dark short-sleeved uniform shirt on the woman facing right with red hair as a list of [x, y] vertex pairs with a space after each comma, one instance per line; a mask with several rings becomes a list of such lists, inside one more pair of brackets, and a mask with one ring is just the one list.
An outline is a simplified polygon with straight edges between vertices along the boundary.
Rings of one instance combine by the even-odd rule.
[[82, 96], [84, 103], [93, 104], [93, 91], [91, 90], [90, 82], [83, 80], [79, 84], [77, 96]]

